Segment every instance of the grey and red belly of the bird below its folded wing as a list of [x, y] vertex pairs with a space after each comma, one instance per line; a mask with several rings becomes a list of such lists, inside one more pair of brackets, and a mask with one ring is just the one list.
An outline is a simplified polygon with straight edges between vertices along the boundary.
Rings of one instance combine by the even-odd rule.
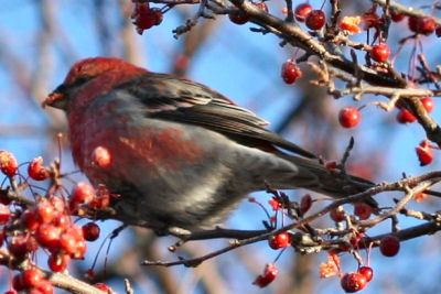
[[[223, 220], [245, 194], [229, 193], [237, 164], [233, 143], [216, 132], [178, 127], [96, 130], [74, 152], [75, 161], [95, 186], [104, 184], [120, 194], [115, 205], [121, 218], [146, 221], [149, 227], [211, 226]], [[111, 154], [108, 166], [92, 161], [89, 154], [97, 146]]]

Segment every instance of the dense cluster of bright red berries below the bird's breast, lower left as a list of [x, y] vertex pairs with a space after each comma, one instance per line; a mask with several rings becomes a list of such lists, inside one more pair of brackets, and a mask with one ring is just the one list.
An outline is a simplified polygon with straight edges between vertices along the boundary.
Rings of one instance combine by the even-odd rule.
[[[98, 163], [105, 165], [106, 160], [98, 157]], [[95, 192], [89, 184], [79, 182], [67, 200], [58, 184], [62, 177], [60, 164], [55, 162], [51, 166], [43, 166], [42, 157], [28, 164], [26, 178], [20, 173], [14, 155], [1, 150], [0, 171], [13, 183], [12, 186], [19, 186], [12, 194], [11, 188], [0, 189], [0, 247], [8, 250], [14, 262], [26, 261], [29, 264], [24, 271], [13, 276], [12, 287], [14, 291], [32, 290], [30, 293], [35, 294], [53, 293], [53, 285], [46, 280], [47, 274], [37, 268], [34, 252], [42, 249], [47, 253], [47, 266], [52, 272], [65, 271], [73, 259], [83, 260], [87, 250], [86, 241], [98, 239], [99, 227], [95, 222], [80, 227], [74, 222], [73, 216], [86, 215], [87, 209], [106, 208], [111, 194], [104, 186]], [[19, 178], [24, 181], [15, 183]], [[24, 196], [18, 197], [17, 193], [22, 195], [23, 188], [34, 186], [31, 179], [52, 179], [52, 185], [45, 196], [30, 189], [32, 200]]]

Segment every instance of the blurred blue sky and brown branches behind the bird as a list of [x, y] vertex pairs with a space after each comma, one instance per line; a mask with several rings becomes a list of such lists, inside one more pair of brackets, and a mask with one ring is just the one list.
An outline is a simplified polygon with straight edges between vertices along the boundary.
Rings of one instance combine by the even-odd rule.
[[[413, 7], [427, 2], [431, 1], [400, 1]], [[299, 3], [293, 1], [294, 7]], [[322, 4], [321, 1], [310, 3], [314, 9]], [[363, 14], [372, 6], [367, 0], [341, 3], [343, 15]], [[283, 1], [268, 1], [267, 4], [270, 13], [283, 18]], [[402, 173], [419, 175], [439, 168], [437, 156], [428, 167], [419, 166], [415, 146], [426, 138], [419, 124], [399, 124], [395, 119], [397, 110], [385, 112], [370, 104], [386, 101], [386, 98], [364, 96], [361, 101], [352, 97], [335, 100], [325, 89], [310, 84], [316, 76], [305, 64], [300, 64], [303, 77], [294, 85], [286, 85], [280, 77], [281, 65], [297, 50], [281, 47], [280, 40], [273, 35], [250, 32], [252, 24], [236, 25], [227, 17], [217, 17], [216, 20], [200, 20], [190, 33], [174, 39], [172, 30], [196, 10], [197, 6], [175, 7], [164, 14], [161, 25], [139, 35], [131, 24], [130, 0], [0, 0], [0, 149], [12, 152], [20, 163], [39, 155], [46, 163], [60, 157], [56, 133], [66, 132], [64, 113], [42, 109], [42, 100], [63, 81], [75, 62], [92, 56], [116, 56], [152, 72], [173, 73], [205, 84], [270, 121], [271, 130], [325, 159], [340, 160], [353, 135], [355, 148], [348, 170], [376, 183], [397, 181]], [[324, 11], [330, 11], [329, 3]], [[406, 21], [392, 23], [388, 40], [392, 54], [398, 51], [398, 40], [408, 35]], [[353, 40], [364, 42], [366, 34], [355, 35]], [[441, 61], [437, 50], [441, 40], [432, 35], [423, 36], [421, 42], [428, 63], [434, 68]], [[412, 48], [412, 43], [407, 44], [397, 56], [399, 72], [408, 72]], [[364, 55], [358, 59], [364, 61]], [[349, 130], [340, 127], [337, 113], [345, 106], [366, 106], [358, 127]], [[440, 111], [435, 106], [432, 112], [435, 120]], [[63, 141], [62, 170], [76, 171], [66, 140]], [[73, 178], [85, 179], [82, 174]], [[293, 199], [304, 194], [302, 190], [288, 193]], [[254, 196], [265, 205], [271, 197], [265, 193]], [[378, 202], [390, 205], [391, 195], [381, 194]], [[313, 211], [326, 203], [314, 204]], [[410, 206], [426, 211], [441, 207], [433, 198]], [[352, 211], [351, 206], [347, 209]], [[262, 229], [265, 219], [256, 204], [244, 200], [225, 226]], [[326, 216], [314, 226], [330, 224]], [[400, 227], [417, 224], [413, 219], [402, 219]], [[84, 276], [98, 257], [95, 269], [98, 280], [106, 281], [120, 293], [123, 293], [123, 277], [130, 279], [136, 293], [343, 293], [340, 279], [319, 277], [320, 262], [326, 261], [325, 252], [300, 255], [291, 248], [277, 262], [280, 269], [277, 280], [267, 288], [256, 287], [251, 284], [255, 277], [279, 254], [267, 242], [240, 248], [195, 269], [140, 266], [143, 260], [197, 257], [228, 244], [228, 240], [193, 241], [172, 253], [168, 247], [175, 238], [157, 238], [141, 228], [126, 229], [112, 241], [104, 266], [106, 236], [119, 225], [116, 221], [99, 224], [101, 237], [89, 244], [86, 260], [73, 262], [69, 271], [74, 276]], [[390, 224], [386, 221], [367, 233], [375, 236], [387, 231], [390, 231]], [[441, 259], [440, 241], [438, 235], [406, 241], [399, 254], [391, 259], [374, 249], [370, 257], [374, 280], [363, 293], [440, 293], [441, 264], [434, 262]], [[98, 253], [103, 243], [104, 250]], [[344, 272], [356, 271], [357, 263], [346, 254], [342, 268]], [[9, 284], [7, 269], [2, 270], [0, 292], [7, 291]]]

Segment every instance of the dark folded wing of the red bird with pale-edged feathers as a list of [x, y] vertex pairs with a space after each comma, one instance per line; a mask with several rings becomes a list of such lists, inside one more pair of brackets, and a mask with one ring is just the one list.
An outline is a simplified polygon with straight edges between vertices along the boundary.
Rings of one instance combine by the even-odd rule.
[[184, 78], [146, 73], [119, 86], [140, 99], [149, 117], [201, 126], [233, 140], [267, 149], [278, 146], [299, 155], [316, 156], [265, 129], [269, 123], [213, 89]]

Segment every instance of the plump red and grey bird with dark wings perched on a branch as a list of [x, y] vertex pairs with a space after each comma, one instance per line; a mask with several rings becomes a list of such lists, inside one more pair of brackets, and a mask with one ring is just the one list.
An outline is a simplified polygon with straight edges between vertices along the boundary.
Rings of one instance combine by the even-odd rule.
[[[267, 184], [334, 198], [374, 186], [327, 170], [207, 86], [115, 57], [77, 62], [43, 105], [66, 113], [74, 162], [89, 182], [120, 195], [117, 218], [162, 235], [215, 228]], [[97, 148], [108, 165], [94, 164]]]

